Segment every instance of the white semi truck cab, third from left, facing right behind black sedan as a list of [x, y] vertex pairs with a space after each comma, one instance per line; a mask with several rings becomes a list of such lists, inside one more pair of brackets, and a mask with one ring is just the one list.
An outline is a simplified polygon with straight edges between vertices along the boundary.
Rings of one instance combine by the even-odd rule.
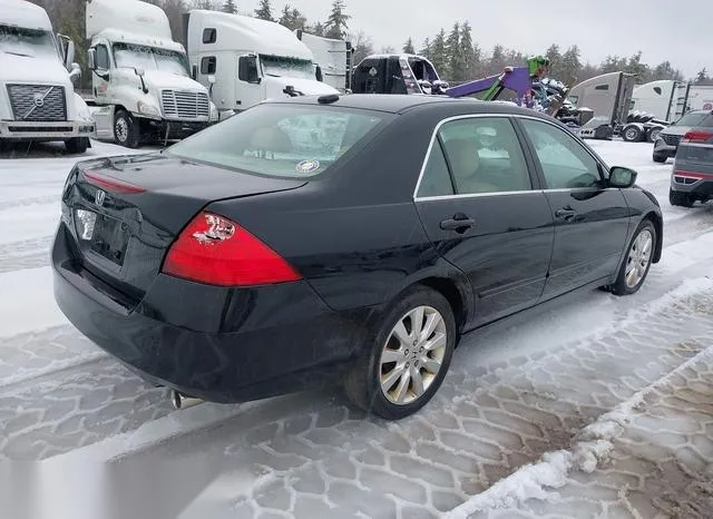
[[318, 81], [314, 55], [280, 23], [196, 9], [184, 31], [193, 77], [211, 88], [221, 117], [271, 98], [339, 94]]

